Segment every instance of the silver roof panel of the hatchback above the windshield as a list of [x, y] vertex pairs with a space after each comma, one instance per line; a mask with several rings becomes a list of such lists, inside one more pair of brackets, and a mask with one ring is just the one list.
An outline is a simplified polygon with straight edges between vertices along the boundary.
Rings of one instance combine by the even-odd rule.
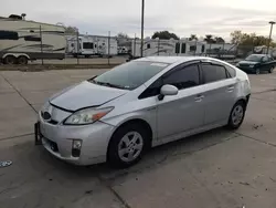
[[197, 61], [197, 60], [210, 60], [210, 61], [220, 61], [213, 58], [206, 58], [206, 56], [148, 56], [148, 58], [141, 58], [136, 61], [149, 61], [149, 62], [161, 62], [161, 63], [183, 63], [189, 61]]

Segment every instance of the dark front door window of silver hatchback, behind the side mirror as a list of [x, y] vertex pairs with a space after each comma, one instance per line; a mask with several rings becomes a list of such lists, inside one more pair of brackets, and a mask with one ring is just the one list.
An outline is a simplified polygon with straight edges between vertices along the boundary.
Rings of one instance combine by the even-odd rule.
[[198, 64], [189, 65], [163, 77], [163, 84], [171, 84], [178, 90], [197, 86], [200, 84]]

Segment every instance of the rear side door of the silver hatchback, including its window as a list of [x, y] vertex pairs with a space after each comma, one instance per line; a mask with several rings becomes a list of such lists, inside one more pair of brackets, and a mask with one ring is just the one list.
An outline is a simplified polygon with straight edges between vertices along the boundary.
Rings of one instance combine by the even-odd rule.
[[226, 67], [230, 66], [220, 62], [201, 63], [206, 106], [204, 125], [226, 121], [235, 103], [236, 77], [233, 71], [229, 72]]

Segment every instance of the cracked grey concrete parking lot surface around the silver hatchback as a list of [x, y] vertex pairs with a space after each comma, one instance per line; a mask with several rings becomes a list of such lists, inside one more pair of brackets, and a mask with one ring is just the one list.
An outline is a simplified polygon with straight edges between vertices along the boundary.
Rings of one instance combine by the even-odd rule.
[[129, 169], [75, 167], [34, 146], [33, 124], [56, 91], [105, 70], [0, 72], [0, 208], [275, 208], [276, 72], [250, 75], [236, 132], [157, 147]]

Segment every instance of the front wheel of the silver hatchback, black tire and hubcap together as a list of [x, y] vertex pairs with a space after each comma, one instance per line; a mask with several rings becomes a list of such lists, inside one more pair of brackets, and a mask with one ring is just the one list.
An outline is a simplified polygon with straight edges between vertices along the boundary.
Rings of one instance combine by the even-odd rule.
[[149, 146], [148, 132], [137, 123], [119, 127], [113, 135], [107, 162], [116, 168], [125, 168], [138, 163]]

